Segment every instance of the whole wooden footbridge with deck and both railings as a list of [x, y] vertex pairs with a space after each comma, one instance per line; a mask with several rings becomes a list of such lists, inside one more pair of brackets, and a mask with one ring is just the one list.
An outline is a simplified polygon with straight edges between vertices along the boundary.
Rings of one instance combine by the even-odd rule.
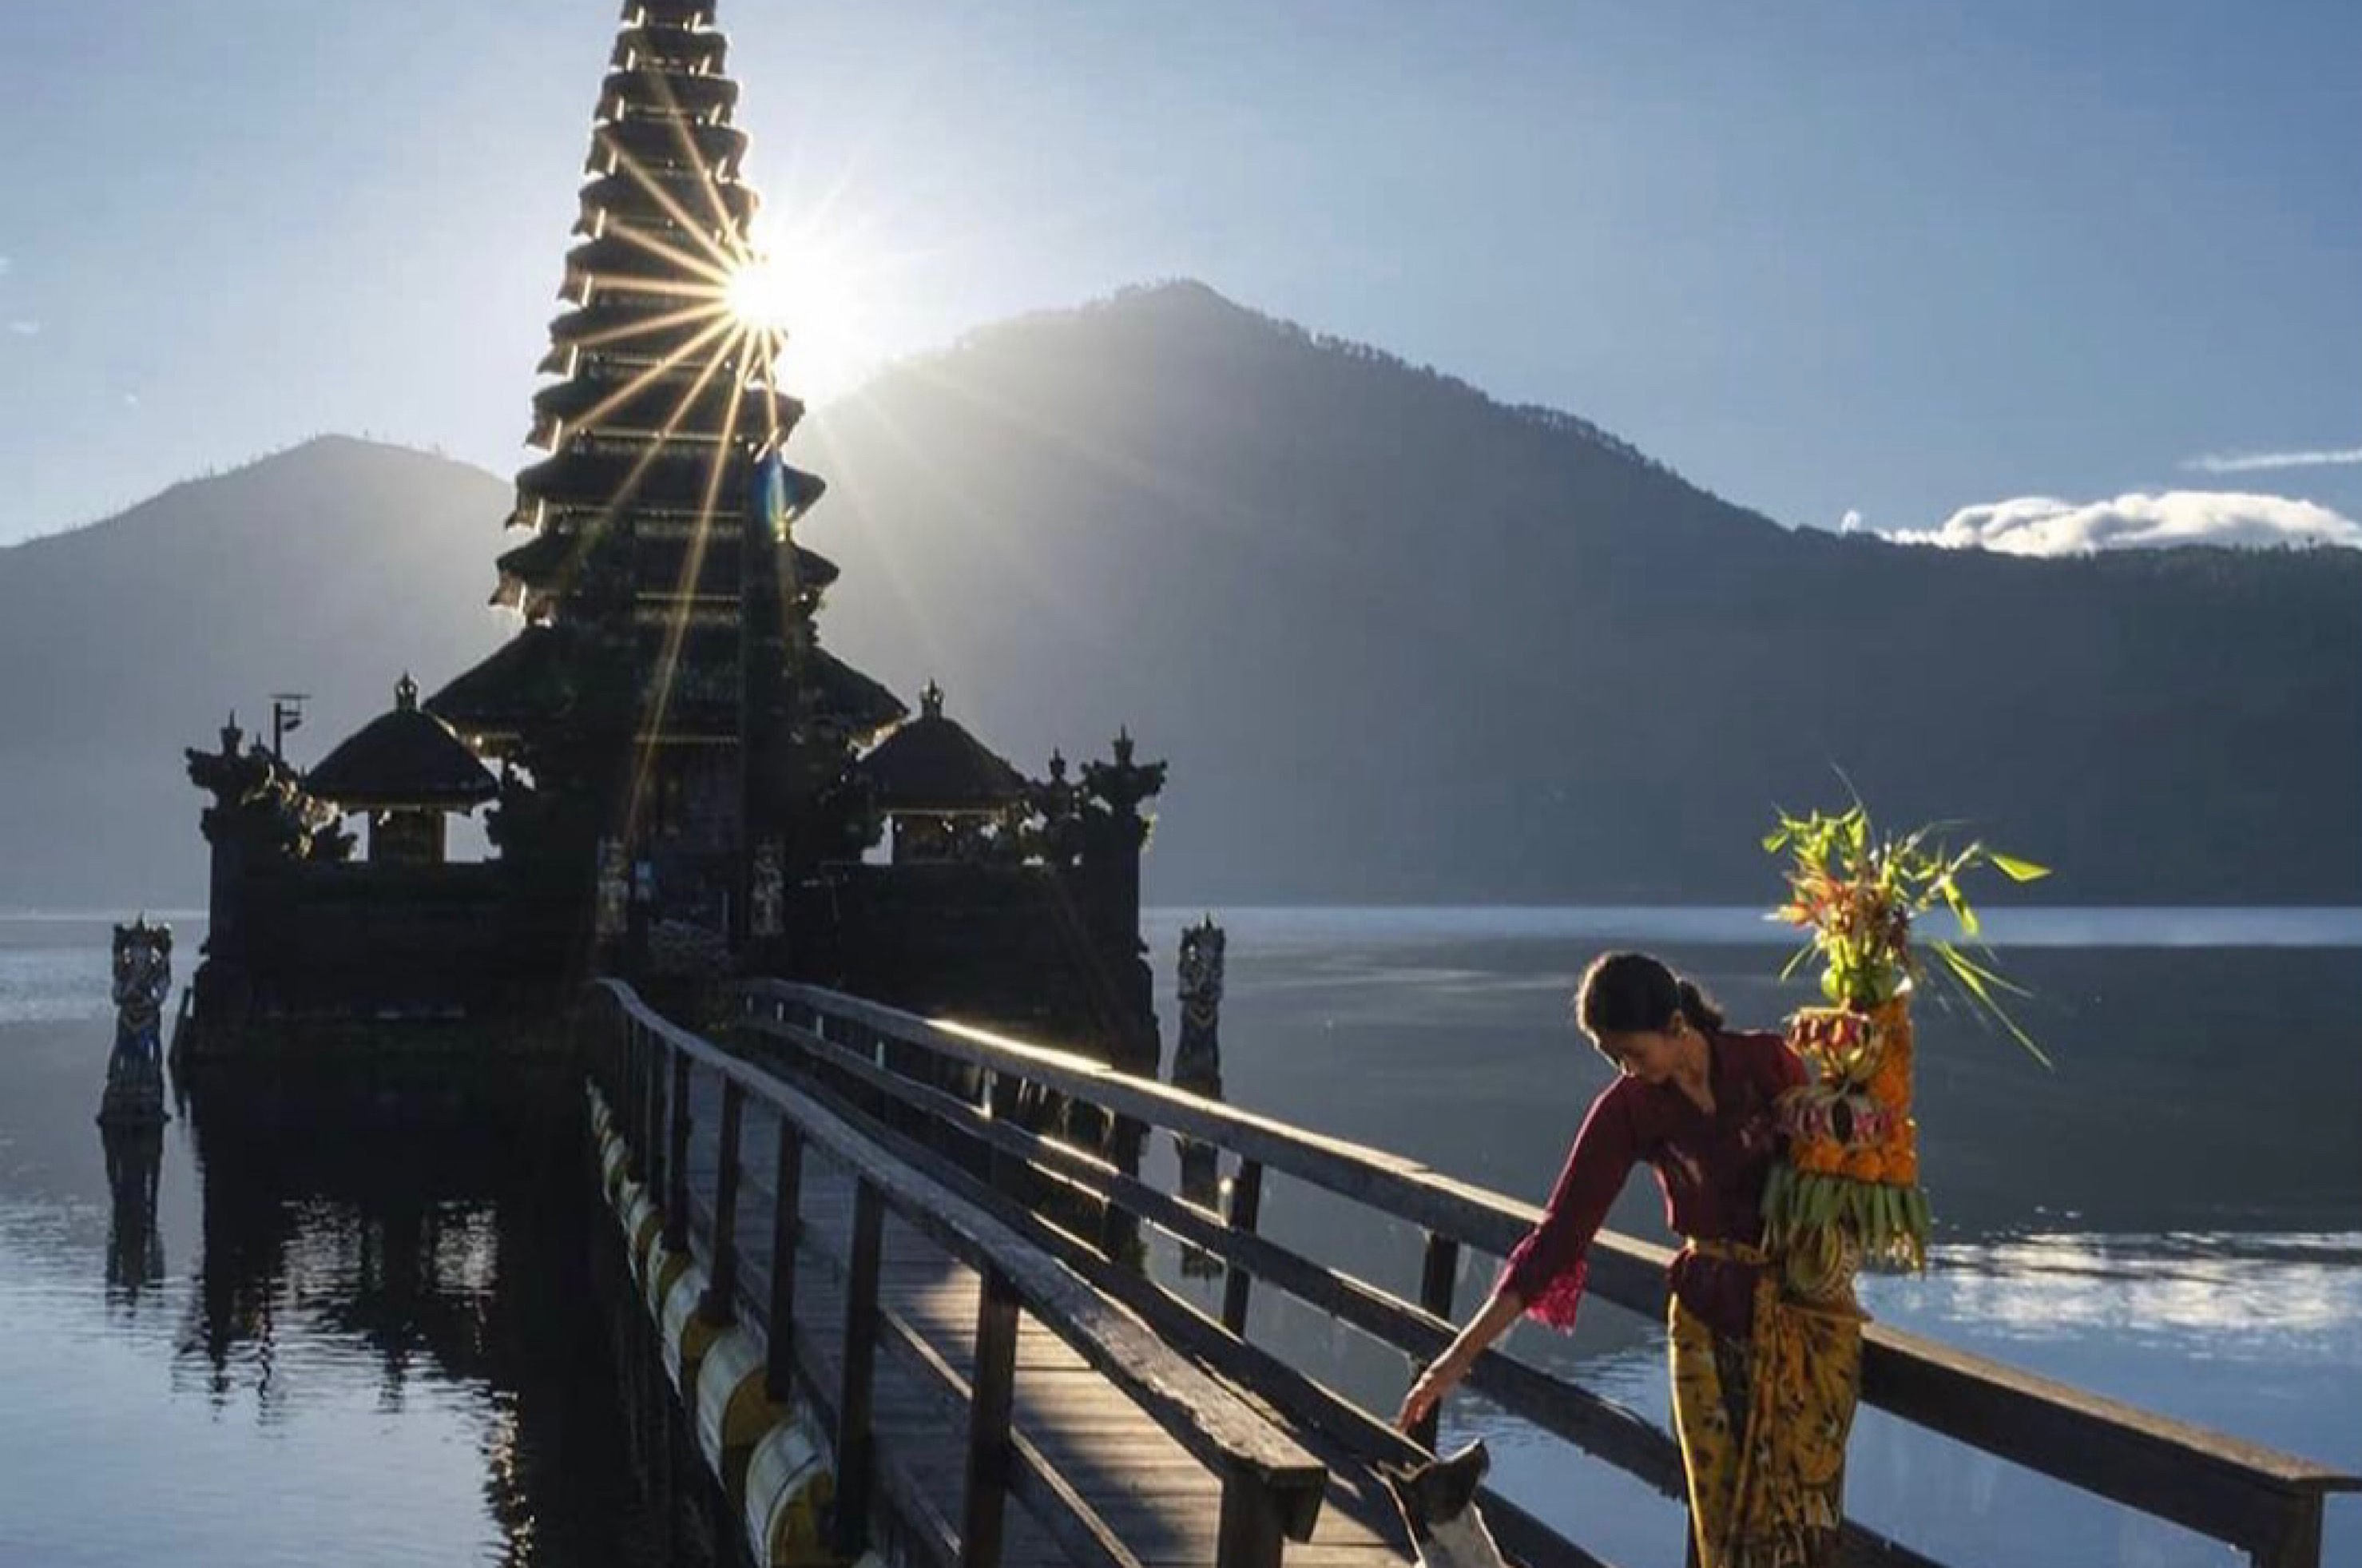
[[[827, 1544], [843, 1556], [881, 1547], [935, 1568], [1410, 1561], [1375, 1464], [1424, 1457], [1434, 1429], [1405, 1438], [1254, 1344], [1252, 1292], [1285, 1292], [1431, 1358], [1453, 1334], [1462, 1254], [1505, 1254], [1538, 1209], [1384, 1150], [836, 992], [756, 982], [742, 1008], [735, 1048], [612, 980], [586, 1018], [598, 1119], [612, 1129], [609, 1195], [645, 1261], [668, 1370], [758, 1559], [782, 1540], [758, 1495], [779, 1466], [749, 1455], [744, 1436], [732, 1448], [732, 1412], [749, 1400], [817, 1415], [836, 1485]], [[1070, 1110], [1053, 1136], [1027, 1115], [1046, 1105], [1082, 1119]], [[1224, 1214], [1101, 1152], [1138, 1148], [1148, 1129], [1226, 1152]], [[1417, 1226], [1415, 1299], [1259, 1235], [1266, 1174]], [[1131, 1261], [1141, 1226], [1219, 1259], [1219, 1315]], [[1663, 1320], [1665, 1261], [1601, 1233], [1590, 1289]], [[735, 1363], [720, 1337], [739, 1346]], [[713, 1372], [699, 1379], [709, 1351]], [[1672, 1436], [1580, 1384], [1495, 1351], [1467, 1386], [1682, 1495]], [[2208, 1535], [2258, 1568], [2317, 1568], [2324, 1497], [2362, 1490], [2308, 1459], [1878, 1325], [1864, 1403]], [[1531, 1568], [1601, 1563], [1507, 1497], [1486, 1492], [1483, 1511]], [[1842, 1561], [1934, 1568], [1852, 1521]]]

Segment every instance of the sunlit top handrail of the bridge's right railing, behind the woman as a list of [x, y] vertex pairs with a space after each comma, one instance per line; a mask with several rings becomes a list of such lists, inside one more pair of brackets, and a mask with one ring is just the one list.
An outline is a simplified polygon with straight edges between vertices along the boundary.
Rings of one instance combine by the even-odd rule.
[[[1283, 1171], [1417, 1223], [1431, 1237], [1493, 1256], [1507, 1254], [1542, 1216], [1528, 1202], [1389, 1150], [1207, 1100], [1068, 1051], [954, 1020], [919, 1018], [822, 987], [756, 980], [744, 992], [751, 1004], [772, 1004], [772, 1011], [784, 1004], [857, 1023], [954, 1063], [1027, 1079], [1103, 1110], [1219, 1143], [1254, 1167]], [[749, 1008], [744, 1023], [775, 1037], [801, 1034], [758, 1008]], [[1601, 1230], [1592, 1244], [1590, 1289], [1627, 1311], [1663, 1318], [1670, 1256], [1665, 1247]], [[1252, 1273], [1252, 1263], [1247, 1268]], [[1927, 1431], [2230, 1542], [2270, 1568], [2317, 1563], [2322, 1500], [2362, 1490], [2362, 1478], [2312, 1459], [1883, 1325], [1864, 1329], [1864, 1400]], [[1505, 1403], [1512, 1410], [1521, 1405], [1516, 1396]]]

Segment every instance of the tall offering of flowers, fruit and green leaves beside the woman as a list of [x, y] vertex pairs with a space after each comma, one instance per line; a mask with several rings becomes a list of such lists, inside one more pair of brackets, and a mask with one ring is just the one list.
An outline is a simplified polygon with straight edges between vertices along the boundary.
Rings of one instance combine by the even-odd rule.
[[[1764, 850], [1788, 855], [1788, 902], [1772, 919], [1807, 933], [1781, 978], [1819, 956], [1828, 1001], [1788, 1020], [1788, 1044], [1814, 1079], [1781, 1098], [1788, 1157], [1764, 1188], [1764, 1242], [1786, 1259], [1790, 1294], [1842, 1304], [1861, 1266], [1927, 1266], [1927, 1195], [1911, 1119], [1916, 982], [1934, 968], [2048, 1065], [2001, 1006], [2001, 992], [2024, 992], [1963, 949], [1979, 928], [1960, 876], [1975, 867], [2010, 881], [2050, 871], [1982, 843], [1951, 850], [1934, 829], [1883, 838], [1859, 803], [1835, 817], [1781, 815]], [[1937, 904], [1951, 909], [1960, 942], [1916, 945], [1911, 923]]]

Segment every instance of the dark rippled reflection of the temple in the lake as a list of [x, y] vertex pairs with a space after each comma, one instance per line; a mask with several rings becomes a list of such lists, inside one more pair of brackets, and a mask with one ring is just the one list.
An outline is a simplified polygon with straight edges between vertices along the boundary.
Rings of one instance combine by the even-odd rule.
[[203, 1244], [175, 1360], [215, 1410], [272, 1429], [359, 1393], [387, 1431], [465, 1410], [501, 1561], [647, 1535], [586, 1311], [607, 1237], [569, 1074], [208, 1067], [187, 1108]]

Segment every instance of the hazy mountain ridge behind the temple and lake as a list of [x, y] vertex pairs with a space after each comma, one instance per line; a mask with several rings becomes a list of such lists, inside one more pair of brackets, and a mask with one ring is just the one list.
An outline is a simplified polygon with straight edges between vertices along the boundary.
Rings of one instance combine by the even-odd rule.
[[[1746, 902], [1772, 803], [1845, 765], [1894, 819], [1972, 810], [2060, 862], [2069, 902], [2362, 902], [2362, 775], [2324, 739], [2362, 730], [2355, 553], [1788, 529], [1580, 416], [1195, 283], [978, 328], [794, 451], [831, 484], [798, 529], [846, 569], [831, 649], [905, 697], [947, 678], [1035, 775], [1117, 725], [1172, 758], [1150, 897]], [[0, 798], [50, 827], [0, 845], [40, 888], [0, 902], [189, 897], [177, 749], [302, 680], [302, 760], [404, 668], [465, 668], [515, 626], [482, 607], [505, 512], [494, 475], [335, 437], [0, 550], [0, 609], [31, 579], [57, 600], [50, 633], [0, 633]], [[189, 517], [210, 557], [172, 543]], [[109, 616], [184, 649], [168, 680]], [[97, 815], [90, 777], [116, 779]]]

